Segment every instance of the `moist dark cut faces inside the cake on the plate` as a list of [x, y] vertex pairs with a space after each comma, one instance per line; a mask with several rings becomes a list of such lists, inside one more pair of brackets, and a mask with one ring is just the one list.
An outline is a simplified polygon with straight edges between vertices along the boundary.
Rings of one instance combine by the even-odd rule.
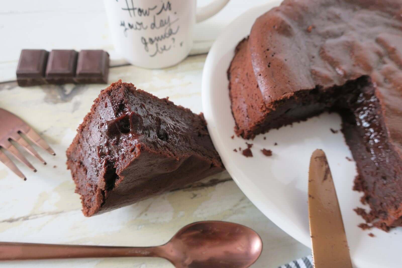
[[[324, 111], [339, 113], [343, 121], [342, 132], [357, 163], [359, 176], [355, 179], [355, 190], [365, 192], [362, 202], [371, 206], [370, 214], [363, 213], [363, 217], [368, 222], [375, 221], [374, 215], [388, 220], [373, 224], [389, 230], [390, 225], [401, 223], [395, 219], [402, 216], [402, 211], [398, 210], [402, 204], [402, 163], [388, 142], [381, 105], [374, 89], [371, 79], [361, 76], [343, 86], [317, 86], [297, 91], [288, 99], [274, 102], [274, 110], [255, 132], [263, 133], [303, 121]], [[391, 220], [390, 213], [394, 216]]]

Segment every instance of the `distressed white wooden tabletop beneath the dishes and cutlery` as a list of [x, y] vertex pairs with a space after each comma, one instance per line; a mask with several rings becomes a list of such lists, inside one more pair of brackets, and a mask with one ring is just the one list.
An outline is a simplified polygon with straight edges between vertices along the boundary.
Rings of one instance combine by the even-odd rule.
[[[205, 1], [199, 1], [204, 4]], [[206, 52], [236, 16], [257, 0], [232, 0], [219, 14], [197, 25], [195, 47], [182, 63], [164, 70], [127, 65], [113, 51], [103, 4], [99, 0], [16, 0], [0, 4], [0, 107], [29, 122], [56, 151], [37, 148], [47, 166], [30, 155], [38, 169], [18, 167], [23, 182], [0, 163], [0, 241], [91, 245], [158, 245], [180, 227], [201, 220], [247, 225], [262, 237], [264, 249], [252, 267], [277, 267], [310, 254], [252, 205], [224, 172], [184, 190], [168, 192], [96, 217], [86, 218], [66, 170], [65, 151], [76, 127], [105, 85], [35, 86], [20, 88], [15, 69], [20, 50], [105, 49], [111, 54], [109, 82], [133, 82], [158, 97], [201, 112], [201, 74]], [[301, 200], [302, 201], [302, 200]], [[1, 267], [173, 267], [158, 258], [105, 258], [2, 262]]]

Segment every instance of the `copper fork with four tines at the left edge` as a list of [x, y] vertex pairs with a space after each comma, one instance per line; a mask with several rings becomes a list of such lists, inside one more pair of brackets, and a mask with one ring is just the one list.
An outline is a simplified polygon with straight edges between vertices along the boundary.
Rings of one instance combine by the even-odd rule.
[[[33, 143], [42, 147], [52, 155], [56, 155], [45, 140], [39, 136], [27, 123], [21, 120], [16, 115], [0, 108], [0, 149], [3, 148], [9, 151], [17, 160], [27, 165], [33, 172], [36, 172], [27, 158], [18, 151], [18, 149], [10, 142], [15, 141], [31, 155], [35, 156], [39, 161], [46, 165], [45, 160], [33, 149], [33, 147], [21, 136], [21, 133], [25, 134]], [[17, 168], [17, 166], [0, 150], [0, 162], [6, 165], [12, 172], [23, 180], [27, 180], [24, 174]]]

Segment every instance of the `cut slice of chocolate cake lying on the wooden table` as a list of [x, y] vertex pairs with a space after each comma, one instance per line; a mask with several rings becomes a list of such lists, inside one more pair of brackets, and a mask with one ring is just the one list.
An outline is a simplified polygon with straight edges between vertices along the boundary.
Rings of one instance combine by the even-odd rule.
[[67, 159], [88, 217], [224, 169], [202, 114], [121, 80], [94, 100]]

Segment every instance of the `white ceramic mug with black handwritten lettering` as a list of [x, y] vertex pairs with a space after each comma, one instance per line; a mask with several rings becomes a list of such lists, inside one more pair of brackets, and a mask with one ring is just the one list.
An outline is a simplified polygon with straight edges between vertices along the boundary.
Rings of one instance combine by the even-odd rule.
[[196, 0], [104, 0], [113, 45], [129, 63], [165, 68], [179, 63], [193, 46], [193, 28], [229, 0], [198, 8]]

